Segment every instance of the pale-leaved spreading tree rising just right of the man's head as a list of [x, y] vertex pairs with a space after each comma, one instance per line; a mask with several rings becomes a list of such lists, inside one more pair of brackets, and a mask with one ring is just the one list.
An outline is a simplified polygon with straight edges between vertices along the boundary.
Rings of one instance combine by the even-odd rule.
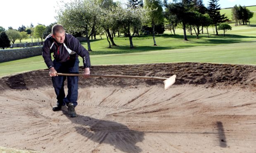
[[94, 0], [73, 0], [57, 10], [57, 20], [67, 32], [85, 34], [88, 51], [92, 51], [90, 37], [98, 28], [101, 13], [100, 5]]

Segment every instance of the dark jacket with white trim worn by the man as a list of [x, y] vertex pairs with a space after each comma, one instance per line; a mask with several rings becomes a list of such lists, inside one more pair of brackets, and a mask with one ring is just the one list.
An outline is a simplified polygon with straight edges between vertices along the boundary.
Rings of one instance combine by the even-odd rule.
[[68, 33], [65, 34], [63, 44], [58, 43], [52, 37], [52, 34], [45, 38], [43, 44], [43, 58], [48, 68], [54, 67], [51, 53], [53, 53], [54, 59], [59, 63], [75, 60], [79, 55], [83, 58], [84, 68], [91, 66], [89, 52], [80, 44], [78, 39]]

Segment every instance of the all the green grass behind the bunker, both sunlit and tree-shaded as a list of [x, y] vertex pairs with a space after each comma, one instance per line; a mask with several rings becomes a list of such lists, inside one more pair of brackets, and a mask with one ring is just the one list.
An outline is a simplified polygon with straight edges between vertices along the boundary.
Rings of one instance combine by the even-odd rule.
[[[135, 49], [129, 48], [128, 40], [116, 40], [116, 44], [120, 46], [112, 49], [107, 48], [106, 39], [97, 40], [91, 43], [94, 50], [90, 52], [91, 64], [204, 62], [256, 65], [256, 37], [249, 34], [228, 34], [227, 37], [212, 35], [210, 38], [200, 36], [200, 39], [189, 36], [190, 41], [187, 42], [182, 37], [156, 37], [159, 46], [152, 46], [152, 39], [134, 40]], [[82, 44], [86, 46], [85, 43]], [[82, 66], [82, 62], [80, 65]], [[0, 76], [45, 68], [42, 56], [36, 56], [0, 63]]]

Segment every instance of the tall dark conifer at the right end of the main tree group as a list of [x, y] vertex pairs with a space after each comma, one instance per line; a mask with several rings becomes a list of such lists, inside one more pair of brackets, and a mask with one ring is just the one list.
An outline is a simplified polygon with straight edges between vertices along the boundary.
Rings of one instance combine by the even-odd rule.
[[218, 1], [219, 0], [210, 0], [208, 6], [208, 13], [215, 25], [216, 35], [218, 35], [217, 24], [228, 20], [228, 17], [226, 17], [225, 14], [220, 15], [220, 5], [218, 4]]

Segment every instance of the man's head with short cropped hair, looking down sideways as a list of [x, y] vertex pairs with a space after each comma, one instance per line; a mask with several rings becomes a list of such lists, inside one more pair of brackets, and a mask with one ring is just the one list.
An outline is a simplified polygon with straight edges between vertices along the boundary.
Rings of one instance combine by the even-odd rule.
[[65, 30], [62, 25], [55, 24], [52, 26], [52, 37], [59, 43], [63, 43], [65, 40]]

